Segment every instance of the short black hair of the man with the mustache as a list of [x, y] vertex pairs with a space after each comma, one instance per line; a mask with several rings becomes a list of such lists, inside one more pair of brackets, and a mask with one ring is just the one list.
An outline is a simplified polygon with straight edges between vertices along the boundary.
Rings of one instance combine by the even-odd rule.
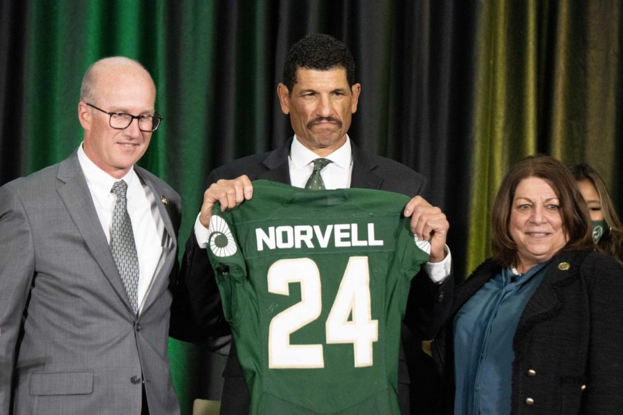
[[282, 83], [291, 93], [296, 84], [296, 70], [298, 68], [328, 71], [332, 68], [344, 68], [348, 86], [354, 84], [354, 59], [350, 50], [338, 39], [311, 33], [296, 44], [292, 45], [283, 64]]

